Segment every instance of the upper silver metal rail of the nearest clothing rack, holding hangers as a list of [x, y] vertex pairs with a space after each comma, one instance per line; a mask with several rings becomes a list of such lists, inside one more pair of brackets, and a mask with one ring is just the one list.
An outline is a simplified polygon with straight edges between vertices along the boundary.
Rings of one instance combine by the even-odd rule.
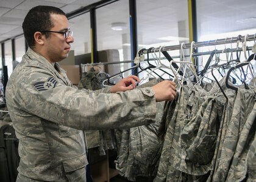
[[[210, 45], [221, 45], [221, 44], [230, 44], [235, 42], [243, 42], [246, 38], [246, 41], [255, 41], [256, 33], [254, 35], [247, 35], [247, 36], [241, 36], [238, 35], [237, 37], [232, 38], [223, 38], [223, 39], [215, 39], [210, 41], [202, 41], [202, 42], [195, 42], [194, 47], [204, 47], [204, 46], [210, 46]], [[159, 52], [161, 49], [161, 52], [163, 51], [169, 51], [169, 50], [179, 50], [181, 44], [179, 45], [169, 45], [169, 46], [163, 46], [163, 47], [155, 47], [151, 49], [143, 49], [141, 50], [140, 54], [146, 54], [146, 53], [154, 53]], [[190, 49], [191, 43], [183, 44], [183, 49]]]

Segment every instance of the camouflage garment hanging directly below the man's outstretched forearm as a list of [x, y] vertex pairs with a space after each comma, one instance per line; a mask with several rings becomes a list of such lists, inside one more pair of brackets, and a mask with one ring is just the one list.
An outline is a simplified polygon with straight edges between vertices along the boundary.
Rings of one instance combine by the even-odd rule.
[[[152, 79], [140, 87], [154, 86], [157, 79]], [[152, 181], [157, 174], [162, 142], [157, 131], [163, 115], [165, 102], [157, 104], [155, 123], [130, 129], [115, 130], [118, 158], [115, 161], [119, 175], [130, 181]]]

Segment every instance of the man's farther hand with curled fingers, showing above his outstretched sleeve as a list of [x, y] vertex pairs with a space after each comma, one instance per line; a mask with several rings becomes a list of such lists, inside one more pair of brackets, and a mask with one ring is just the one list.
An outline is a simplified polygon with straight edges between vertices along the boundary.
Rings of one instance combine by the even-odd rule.
[[110, 92], [124, 92], [126, 90], [132, 90], [136, 87], [136, 82], [140, 82], [138, 76], [132, 75], [121, 79], [115, 86], [111, 87]]

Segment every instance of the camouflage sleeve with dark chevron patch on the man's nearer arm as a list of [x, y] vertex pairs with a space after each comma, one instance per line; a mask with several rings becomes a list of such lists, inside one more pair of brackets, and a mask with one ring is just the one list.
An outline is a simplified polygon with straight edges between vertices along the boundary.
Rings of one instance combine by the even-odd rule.
[[151, 87], [119, 93], [89, 92], [66, 86], [48, 73], [30, 72], [16, 79], [12, 90], [13, 106], [18, 104], [26, 112], [79, 130], [135, 127], [155, 119]]

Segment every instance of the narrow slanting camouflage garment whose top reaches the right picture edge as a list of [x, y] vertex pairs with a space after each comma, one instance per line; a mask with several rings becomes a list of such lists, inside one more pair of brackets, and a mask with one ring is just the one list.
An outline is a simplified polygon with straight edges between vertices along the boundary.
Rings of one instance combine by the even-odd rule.
[[232, 163], [233, 155], [241, 130], [254, 107], [254, 90], [238, 89], [232, 111], [232, 118], [227, 126], [218, 166], [213, 174], [213, 181], [225, 181]]

